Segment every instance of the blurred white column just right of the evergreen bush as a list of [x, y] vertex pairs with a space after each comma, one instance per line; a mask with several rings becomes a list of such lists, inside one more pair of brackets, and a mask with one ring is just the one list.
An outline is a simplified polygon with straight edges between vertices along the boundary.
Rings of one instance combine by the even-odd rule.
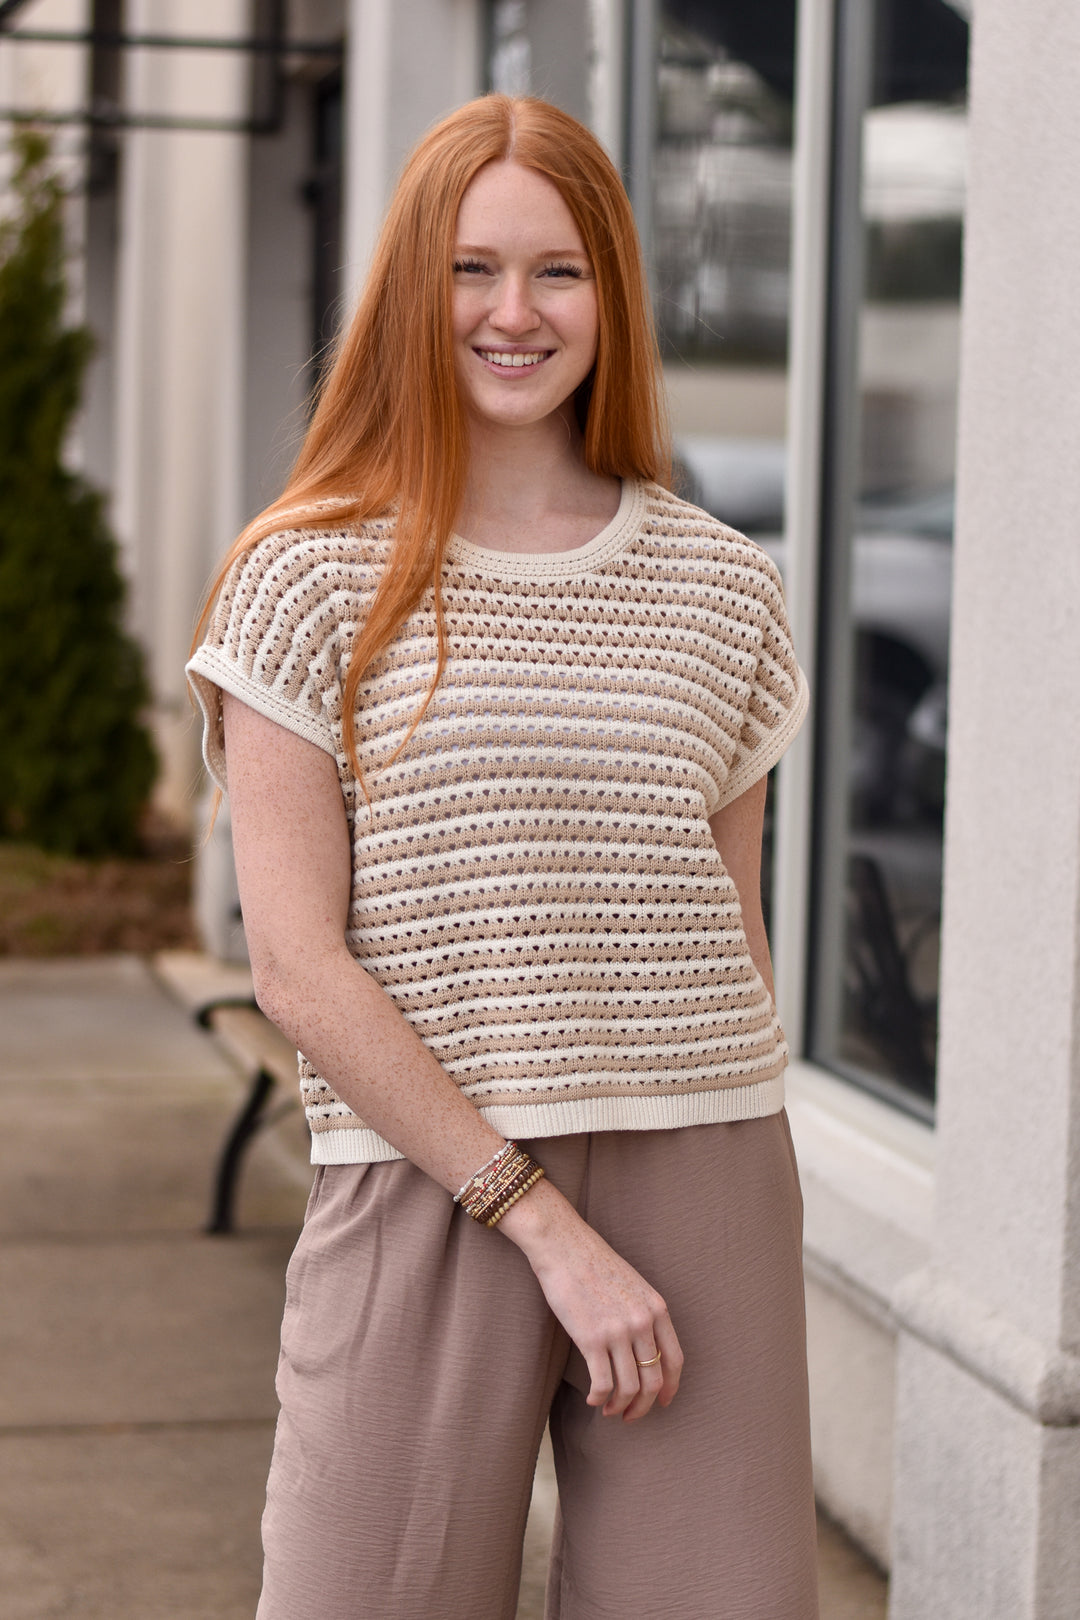
[[[248, 28], [244, 0], [134, 0], [133, 32]], [[243, 117], [238, 52], [133, 52], [131, 110]], [[128, 136], [117, 287], [115, 525], [147, 651], [157, 800], [193, 816], [199, 739], [183, 677], [215, 559], [243, 522], [240, 433], [246, 136]]]

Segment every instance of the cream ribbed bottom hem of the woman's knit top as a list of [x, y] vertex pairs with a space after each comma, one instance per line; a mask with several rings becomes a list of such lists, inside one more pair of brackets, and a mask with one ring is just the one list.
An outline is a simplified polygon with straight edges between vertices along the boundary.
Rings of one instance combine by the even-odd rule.
[[[763, 1119], [782, 1106], [784, 1076], [777, 1074], [755, 1085], [729, 1085], [714, 1092], [583, 1097], [572, 1103], [495, 1105], [479, 1113], [502, 1136], [528, 1142], [583, 1131], [678, 1131], [690, 1124], [733, 1124], [737, 1119]], [[403, 1157], [366, 1128], [317, 1131], [311, 1137], [313, 1165], [381, 1165]]]

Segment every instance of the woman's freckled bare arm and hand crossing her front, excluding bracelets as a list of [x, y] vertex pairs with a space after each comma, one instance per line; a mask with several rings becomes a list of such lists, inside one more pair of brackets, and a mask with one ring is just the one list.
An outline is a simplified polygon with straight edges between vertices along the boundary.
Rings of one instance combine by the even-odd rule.
[[[225, 693], [236, 876], [256, 996], [338, 1097], [450, 1192], [502, 1145], [345, 944], [351, 855], [329, 755]], [[678, 1388], [667, 1307], [541, 1181], [504, 1215], [591, 1377], [589, 1405], [644, 1416]], [[499, 1233], [492, 1233], [497, 1243]], [[657, 1367], [640, 1369], [654, 1349]]]

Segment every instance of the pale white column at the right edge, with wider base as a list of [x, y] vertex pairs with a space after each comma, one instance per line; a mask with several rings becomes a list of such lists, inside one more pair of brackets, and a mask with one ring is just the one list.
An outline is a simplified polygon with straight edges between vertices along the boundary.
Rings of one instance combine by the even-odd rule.
[[973, 23], [929, 1270], [892, 1620], [1080, 1612], [1080, 10]]

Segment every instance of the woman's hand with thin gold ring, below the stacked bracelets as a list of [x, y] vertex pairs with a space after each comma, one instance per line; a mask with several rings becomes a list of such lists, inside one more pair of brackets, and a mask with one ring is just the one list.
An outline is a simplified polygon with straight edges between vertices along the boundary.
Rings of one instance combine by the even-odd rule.
[[[585, 1356], [589, 1406], [625, 1422], [678, 1390], [683, 1353], [657, 1291], [576, 1210], [541, 1181], [500, 1230], [526, 1256], [554, 1315]], [[643, 1367], [661, 1353], [659, 1362]]]

